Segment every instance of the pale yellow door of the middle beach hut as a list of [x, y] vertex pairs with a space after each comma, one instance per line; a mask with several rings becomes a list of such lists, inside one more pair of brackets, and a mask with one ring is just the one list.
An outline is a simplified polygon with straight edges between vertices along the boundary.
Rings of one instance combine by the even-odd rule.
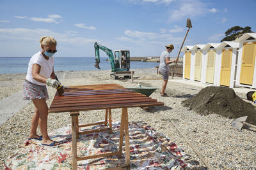
[[215, 66], [215, 52], [210, 50], [207, 55], [207, 67], [206, 67], [206, 82], [213, 83], [214, 81], [214, 66]]

